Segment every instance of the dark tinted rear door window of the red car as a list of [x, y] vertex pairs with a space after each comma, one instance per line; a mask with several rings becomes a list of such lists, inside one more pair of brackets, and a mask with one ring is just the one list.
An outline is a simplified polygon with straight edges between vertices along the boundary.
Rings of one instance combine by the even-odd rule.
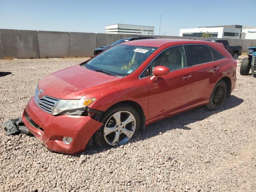
[[213, 61], [212, 52], [207, 45], [186, 45], [186, 55], [190, 66]]

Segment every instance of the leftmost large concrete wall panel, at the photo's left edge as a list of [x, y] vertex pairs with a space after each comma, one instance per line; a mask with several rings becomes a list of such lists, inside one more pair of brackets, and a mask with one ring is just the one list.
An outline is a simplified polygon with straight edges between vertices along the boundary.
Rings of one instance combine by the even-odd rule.
[[0, 29], [0, 57], [39, 58], [37, 32]]

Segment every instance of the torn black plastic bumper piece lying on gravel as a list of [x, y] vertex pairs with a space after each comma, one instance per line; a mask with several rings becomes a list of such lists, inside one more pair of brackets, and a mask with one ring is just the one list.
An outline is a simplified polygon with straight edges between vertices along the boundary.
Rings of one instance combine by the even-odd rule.
[[28, 128], [24, 126], [24, 123], [21, 118], [6, 121], [2, 124], [2, 126], [6, 128], [6, 135], [11, 135], [15, 133], [24, 133], [26, 135], [31, 134]]

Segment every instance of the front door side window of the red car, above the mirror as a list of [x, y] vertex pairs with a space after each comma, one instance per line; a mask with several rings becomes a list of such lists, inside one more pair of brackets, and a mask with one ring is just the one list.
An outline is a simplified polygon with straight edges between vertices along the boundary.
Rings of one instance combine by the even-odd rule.
[[151, 63], [152, 70], [158, 65], [166, 66], [170, 71], [185, 68], [187, 64], [184, 46], [175, 46], [163, 51]]

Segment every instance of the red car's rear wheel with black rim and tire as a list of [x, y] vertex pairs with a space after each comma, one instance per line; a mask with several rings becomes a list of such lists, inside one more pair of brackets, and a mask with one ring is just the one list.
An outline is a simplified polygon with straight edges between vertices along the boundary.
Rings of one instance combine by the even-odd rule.
[[206, 105], [209, 110], [216, 110], [222, 106], [227, 96], [227, 85], [224, 80], [220, 80], [214, 87], [210, 96], [210, 101]]

